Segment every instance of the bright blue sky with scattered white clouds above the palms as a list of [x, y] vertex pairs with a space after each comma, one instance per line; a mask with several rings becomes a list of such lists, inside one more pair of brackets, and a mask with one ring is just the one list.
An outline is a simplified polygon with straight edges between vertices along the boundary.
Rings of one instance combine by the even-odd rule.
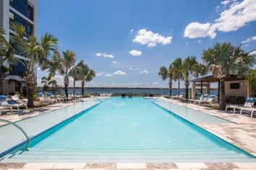
[[255, 0], [38, 0], [38, 36], [50, 32], [97, 72], [87, 86], [168, 87], [158, 69], [175, 58], [200, 61], [214, 42], [256, 49], [255, 21]]

